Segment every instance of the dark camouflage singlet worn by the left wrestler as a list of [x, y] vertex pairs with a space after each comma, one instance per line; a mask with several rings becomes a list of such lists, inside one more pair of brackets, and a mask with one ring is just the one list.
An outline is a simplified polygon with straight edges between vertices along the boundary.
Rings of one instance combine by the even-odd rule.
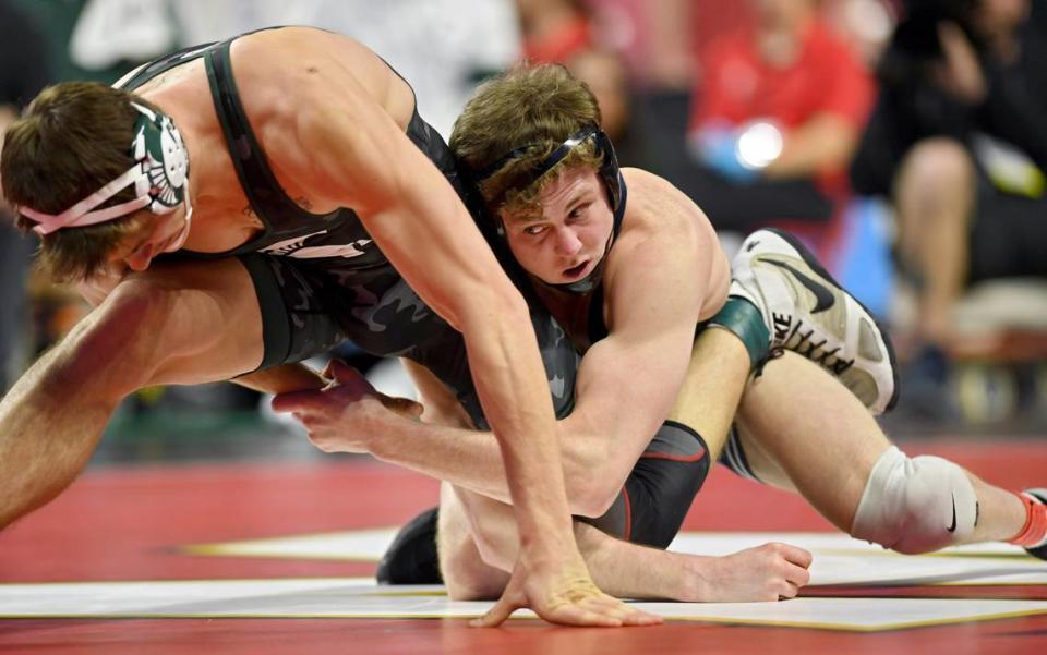
[[[167, 56], [146, 64], [123, 84], [134, 90], [174, 66], [204, 59], [226, 146], [251, 209], [264, 226], [257, 238], [232, 251], [180, 251], [172, 256], [240, 258], [262, 310], [265, 354], [260, 368], [323, 354], [349, 339], [372, 354], [409, 357], [424, 365], [455, 392], [477, 424], [485, 427], [461, 335], [404, 281], [352, 209], [311, 214], [280, 189], [240, 102], [229, 54], [233, 40]], [[450, 149], [421, 119], [417, 107], [407, 135], [477, 217], [478, 204], [459, 178]], [[574, 408], [578, 355], [558, 324], [534, 301], [529, 288], [519, 283], [515, 262], [504, 252], [501, 255], [503, 266], [529, 301], [556, 414], [565, 416]]]

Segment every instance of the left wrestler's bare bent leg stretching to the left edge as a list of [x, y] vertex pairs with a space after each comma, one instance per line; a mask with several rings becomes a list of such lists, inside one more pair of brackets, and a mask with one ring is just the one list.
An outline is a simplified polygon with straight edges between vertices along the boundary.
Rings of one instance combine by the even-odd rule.
[[0, 401], [0, 526], [72, 482], [132, 391], [228, 379], [261, 361], [261, 314], [237, 260], [130, 276]]

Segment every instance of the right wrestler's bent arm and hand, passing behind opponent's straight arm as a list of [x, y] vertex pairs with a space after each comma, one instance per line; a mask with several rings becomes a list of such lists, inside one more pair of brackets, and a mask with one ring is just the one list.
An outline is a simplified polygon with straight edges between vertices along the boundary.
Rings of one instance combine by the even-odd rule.
[[[638, 184], [653, 185], [661, 197], [653, 204], [638, 201], [636, 209], [659, 211], [659, 225], [666, 229], [624, 235], [615, 245], [616, 260], [607, 277], [611, 336], [582, 359], [575, 410], [557, 424], [568, 504], [576, 514], [600, 515], [613, 501], [669, 414], [689, 360], [696, 319], [723, 302], [719, 287], [726, 283], [726, 262], [708, 220], [664, 181], [645, 174]], [[412, 365], [409, 371], [426, 412], [454, 415], [454, 396], [424, 368]], [[301, 411], [311, 437], [325, 450], [368, 450], [508, 501], [489, 433], [402, 421], [373, 401], [347, 408], [336, 396], [293, 395], [278, 402], [286, 411]]]

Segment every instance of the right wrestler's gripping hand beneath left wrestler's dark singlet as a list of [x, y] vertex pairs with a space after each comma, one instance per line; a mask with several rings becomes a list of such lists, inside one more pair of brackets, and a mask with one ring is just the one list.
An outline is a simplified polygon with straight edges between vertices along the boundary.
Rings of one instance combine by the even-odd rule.
[[380, 393], [359, 371], [332, 360], [322, 374], [330, 383], [318, 391], [292, 391], [273, 399], [273, 410], [290, 413], [324, 452], [368, 452], [368, 441], [388, 434], [402, 419], [418, 420], [422, 405]]

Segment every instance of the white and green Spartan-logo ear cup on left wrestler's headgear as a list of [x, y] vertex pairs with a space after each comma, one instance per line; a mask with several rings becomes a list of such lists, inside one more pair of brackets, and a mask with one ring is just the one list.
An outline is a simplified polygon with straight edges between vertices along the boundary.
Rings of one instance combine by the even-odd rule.
[[189, 154], [170, 117], [137, 102], [131, 105], [142, 113], [134, 125], [133, 156], [141, 162], [149, 184], [147, 191], [135, 191], [153, 198], [149, 208], [154, 214], [167, 214], [185, 197]]

